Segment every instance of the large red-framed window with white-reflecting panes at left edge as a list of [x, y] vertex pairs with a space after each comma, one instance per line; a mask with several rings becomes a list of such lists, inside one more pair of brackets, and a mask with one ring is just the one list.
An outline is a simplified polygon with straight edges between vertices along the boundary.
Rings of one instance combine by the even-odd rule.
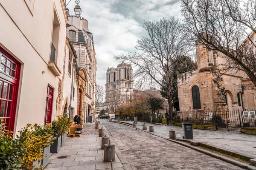
[[4, 119], [7, 130], [11, 131], [14, 131], [16, 120], [20, 67], [20, 62], [0, 47], [0, 118]]

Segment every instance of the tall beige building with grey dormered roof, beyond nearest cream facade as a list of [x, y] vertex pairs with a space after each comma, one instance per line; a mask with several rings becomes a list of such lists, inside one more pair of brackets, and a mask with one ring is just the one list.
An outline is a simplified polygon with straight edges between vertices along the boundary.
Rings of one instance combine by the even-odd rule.
[[[81, 17], [72, 16], [67, 9], [68, 22], [66, 34], [72, 42], [77, 56], [77, 66], [84, 70], [86, 85], [78, 91], [78, 114], [84, 123], [94, 120], [95, 108], [95, 82], [96, 82], [96, 53], [94, 49], [93, 34], [89, 32], [88, 21]], [[78, 85], [81, 85], [78, 82]], [[90, 117], [92, 116], [92, 117]], [[91, 119], [90, 119], [91, 118]]]

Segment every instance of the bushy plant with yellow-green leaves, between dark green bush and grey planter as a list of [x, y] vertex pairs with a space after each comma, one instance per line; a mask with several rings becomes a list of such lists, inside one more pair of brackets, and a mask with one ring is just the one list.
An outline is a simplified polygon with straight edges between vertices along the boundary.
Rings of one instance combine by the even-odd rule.
[[44, 153], [42, 153], [44, 147], [52, 144], [52, 141], [56, 139], [53, 136], [53, 129], [51, 124], [47, 124], [45, 127], [41, 125], [31, 125], [28, 124], [22, 129], [26, 140], [24, 143], [25, 153], [22, 156], [21, 163], [23, 167], [28, 168], [29, 170], [41, 170], [43, 169], [42, 165], [33, 165], [35, 161], [44, 160]]

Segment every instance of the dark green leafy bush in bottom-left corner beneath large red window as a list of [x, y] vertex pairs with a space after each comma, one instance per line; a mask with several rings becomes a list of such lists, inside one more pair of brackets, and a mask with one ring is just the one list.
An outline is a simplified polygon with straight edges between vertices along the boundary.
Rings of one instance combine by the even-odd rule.
[[0, 120], [0, 169], [1, 170], [21, 170], [24, 134], [12, 138], [12, 131], [5, 130], [3, 119]]

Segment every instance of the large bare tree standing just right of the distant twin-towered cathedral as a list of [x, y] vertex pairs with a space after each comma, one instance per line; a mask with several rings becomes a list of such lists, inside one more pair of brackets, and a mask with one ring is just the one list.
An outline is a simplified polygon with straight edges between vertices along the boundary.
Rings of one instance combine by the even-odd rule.
[[128, 55], [121, 54], [115, 58], [125, 60], [137, 68], [134, 78], [139, 79], [139, 88], [145, 83], [165, 88], [169, 113], [172, 113], [173, 65], [178, 56], [188, 55], [191, 51], [190, 39], [184, 34], [180, 20], [174, 17], [157, 22], [145, 21], [143, 28], [148, 36], [138, 40], [135, 47], [141, 53], [129, 52]]

